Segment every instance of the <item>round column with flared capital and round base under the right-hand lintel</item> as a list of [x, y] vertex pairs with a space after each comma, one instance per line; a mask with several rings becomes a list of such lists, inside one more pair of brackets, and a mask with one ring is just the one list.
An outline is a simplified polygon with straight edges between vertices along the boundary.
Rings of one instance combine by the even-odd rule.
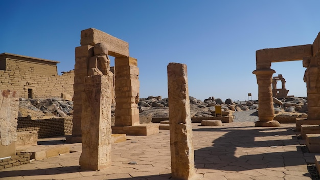
[[259, 121], [256, 122], [256, 126], [280, 126], [278, 121], [273, 121], [275, 117], [271, 89], [273, 73], [276, 73], [276, 71], [271, 69], [255, 70], [253, 72], [257, 76], [259, 98]]

